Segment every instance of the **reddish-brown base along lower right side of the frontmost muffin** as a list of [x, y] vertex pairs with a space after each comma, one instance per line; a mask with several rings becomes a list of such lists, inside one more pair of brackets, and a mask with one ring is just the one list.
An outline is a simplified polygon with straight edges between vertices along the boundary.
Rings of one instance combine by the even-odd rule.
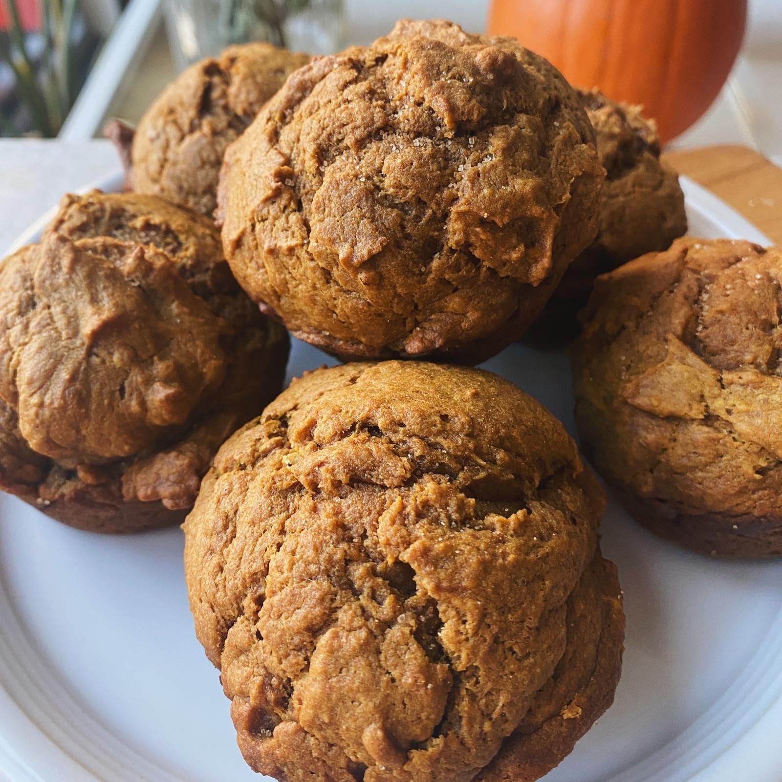
[[[473, 782], [534, 782], [540, 779], [572, 752], [576, 741], [612, 705], [624, 649], [622, 592], [615, 565], [602, 558], [599, 550], [590, 571], [601, 600], [601, 630], [594, 667], [583, 671], [581, 686], [558, 712], [538, 726], [522, 724], [520, 730], [506, 738], [500, 752]], [[576, 627], [573, 640], [580, 640], [580, 635], [580, 628]]]

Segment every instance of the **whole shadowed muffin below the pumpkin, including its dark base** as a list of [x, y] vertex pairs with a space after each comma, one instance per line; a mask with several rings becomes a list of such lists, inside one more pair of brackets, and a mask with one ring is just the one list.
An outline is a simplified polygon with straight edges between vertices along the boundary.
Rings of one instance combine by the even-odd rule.
[[578, 311], [594, 278], [644, 253], [668, 249], [687, 231], [684, 194], [676, 171], [660, 160], [654, 120], [640, 106], [576, 90], [597, 136], [606, 170], [600, 228], [594, 242], [570, 264], [529, 334], [537, 343], [559, 343], [578, 333]]

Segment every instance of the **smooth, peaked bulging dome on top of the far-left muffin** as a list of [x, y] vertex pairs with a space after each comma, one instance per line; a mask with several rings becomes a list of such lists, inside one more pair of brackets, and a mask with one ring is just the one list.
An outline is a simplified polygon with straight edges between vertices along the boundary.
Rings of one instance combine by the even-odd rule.
[[224, 325], [154, 250], [51, 233], [6, 260], [0, 289], [0, 396], [39, 454], [134, 454], [224, 378]]

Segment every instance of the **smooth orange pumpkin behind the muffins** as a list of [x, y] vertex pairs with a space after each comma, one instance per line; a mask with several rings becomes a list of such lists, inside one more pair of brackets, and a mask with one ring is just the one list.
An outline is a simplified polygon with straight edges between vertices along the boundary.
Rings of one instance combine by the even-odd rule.
[[579, 87], [644, 106], [667, 141], [711, 106], [741, 48], [747, 0], [493, 0], [515, 35]]

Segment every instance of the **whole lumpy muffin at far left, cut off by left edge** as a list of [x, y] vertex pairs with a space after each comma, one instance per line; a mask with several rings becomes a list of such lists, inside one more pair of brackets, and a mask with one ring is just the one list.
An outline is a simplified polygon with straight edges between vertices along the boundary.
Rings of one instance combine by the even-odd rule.
[[287, 353], [208, 218], [66, 195], [41, 242], [0, 263], [0, 488], [81, 529], [181, 522]]

